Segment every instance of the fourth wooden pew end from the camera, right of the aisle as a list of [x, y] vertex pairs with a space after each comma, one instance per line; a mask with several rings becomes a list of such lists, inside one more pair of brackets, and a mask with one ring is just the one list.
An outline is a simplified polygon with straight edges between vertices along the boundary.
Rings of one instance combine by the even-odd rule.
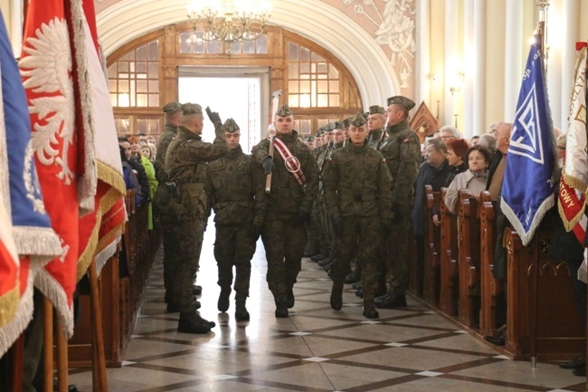
[[441, 188], [441, 292], [439, 307], [449, 316], [457, 315], [458, 244], [457, 216], [451, 214], [443, 199], [447, 188]]

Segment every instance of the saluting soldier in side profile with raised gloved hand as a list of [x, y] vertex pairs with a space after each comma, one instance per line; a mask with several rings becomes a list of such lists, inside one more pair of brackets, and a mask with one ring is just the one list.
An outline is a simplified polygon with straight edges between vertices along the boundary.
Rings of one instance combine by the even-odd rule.
[[182, 125], [166, 152], [166, 173], [169, 182], [175, 183], [174, 196], [167, 206], [167, 214], [174, 222], [169, 230], [174, 232], [173, 246], [179, 251], [171, 287], [180, 311], [177, 330], [187, 333], [206, 333], [214, 326], [196, 313], [192, 294], [208, 218], [206, 162], [223, 158], [229, 150], [218, 113], [209, 113], [209, 118], [216, 133], [213, 143], [205, 143], [200, 137], [204, 128], [202, 107], [194, 103], [182, 105]]

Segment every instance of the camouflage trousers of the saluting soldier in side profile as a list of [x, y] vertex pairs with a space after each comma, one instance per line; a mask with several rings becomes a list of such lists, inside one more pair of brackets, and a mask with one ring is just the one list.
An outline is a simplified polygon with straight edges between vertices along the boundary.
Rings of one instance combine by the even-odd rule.
[[177, 303], [180, 311], [194, 311], [192, 292], [200, 263], [205, 227], [205, 218], [194, 218], [176, 222], [167, 228], [168, 235], [174, 238], [174, 242], [170, 244], [173, 249], [170, 273], [172, 300]]

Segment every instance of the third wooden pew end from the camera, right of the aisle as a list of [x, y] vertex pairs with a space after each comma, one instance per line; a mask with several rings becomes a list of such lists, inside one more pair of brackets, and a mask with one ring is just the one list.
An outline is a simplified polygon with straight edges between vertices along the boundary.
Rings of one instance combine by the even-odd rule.
[[479, 326], [479, 216], [478, 200], [466, 189], [458, 194], [458, 245], [460, 248], [460, 301], [458, 320]]

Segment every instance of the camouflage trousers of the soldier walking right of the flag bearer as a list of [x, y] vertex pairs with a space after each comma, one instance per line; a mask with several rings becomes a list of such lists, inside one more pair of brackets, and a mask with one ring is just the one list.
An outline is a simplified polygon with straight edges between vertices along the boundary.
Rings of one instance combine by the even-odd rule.
[[372, 301], [378, 284], [380, 217], [346, 216], [343, 220], [343, 235], [337, 237], [337, 259], [331, 267], [333, 285], [343, 288], [346, 274], [351, 272], [351, 260], [359, 254], [362, 261], [361, 282], [364, 286], [364, 300]]

